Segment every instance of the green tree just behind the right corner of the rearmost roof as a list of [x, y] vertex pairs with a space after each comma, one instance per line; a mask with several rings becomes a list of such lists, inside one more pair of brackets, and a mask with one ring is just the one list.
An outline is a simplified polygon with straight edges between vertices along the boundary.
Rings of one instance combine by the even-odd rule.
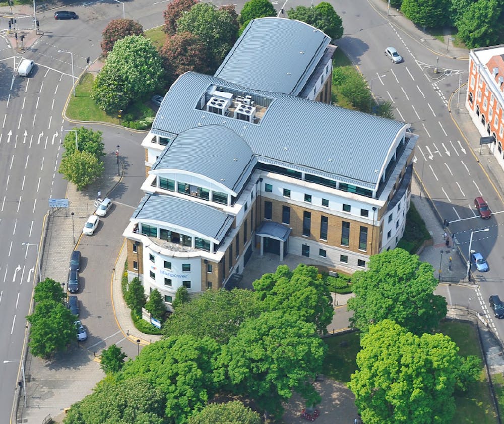
[[297, 19], [320, 29], [329, 35], [333, 40], [337, 40], [343, 35], [343, 21], [335, 12], [332, 5], [322, 2], [316, 7], [298, 6], [287, 11], [290, 19]]

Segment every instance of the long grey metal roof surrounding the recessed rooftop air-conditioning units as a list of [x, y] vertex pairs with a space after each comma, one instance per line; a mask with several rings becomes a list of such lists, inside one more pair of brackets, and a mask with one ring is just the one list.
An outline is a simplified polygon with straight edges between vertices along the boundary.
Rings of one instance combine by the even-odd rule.
[[[200, 110], [212, 86], [273, 98], [259, 124]], [[249, 90], [208, 75], [187, 72], [166, 93], [152, 131], [180, 134], [221, 125], [243, 138], [251, 150], [286, 164], [306, 166], [352, 184], [377, 187], [396, 137], [406, 124], [288, 94]], [[218, 166], [218, 165], [216, 165]]]

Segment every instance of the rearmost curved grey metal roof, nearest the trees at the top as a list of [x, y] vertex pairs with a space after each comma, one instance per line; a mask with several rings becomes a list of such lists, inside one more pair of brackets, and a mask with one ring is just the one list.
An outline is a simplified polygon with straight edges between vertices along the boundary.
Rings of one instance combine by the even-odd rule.
[[297, 96], [330, 42], [331, 37], [305, 22], [253, 19], [214, 76], [257, 90]]

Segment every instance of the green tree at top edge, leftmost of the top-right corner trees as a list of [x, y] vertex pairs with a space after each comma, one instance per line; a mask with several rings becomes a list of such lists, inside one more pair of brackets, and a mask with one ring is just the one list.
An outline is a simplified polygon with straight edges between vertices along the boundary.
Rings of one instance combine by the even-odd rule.
[[452, 0], [403, 0], [401, 11], [414, 24], [437, 28], [450, 23]]

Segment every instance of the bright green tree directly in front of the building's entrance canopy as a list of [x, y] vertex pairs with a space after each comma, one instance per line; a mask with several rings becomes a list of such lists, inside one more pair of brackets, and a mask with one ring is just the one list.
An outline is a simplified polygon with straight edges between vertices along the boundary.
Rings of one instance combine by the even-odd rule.
[[334, 315], [333, 300], [317, 268], [300, 264], [291, 272], [287, 265], [280, 265], [274, 274], [263, 275], [253, 285], [266, 310], [297, 311], [301, 319], [327, 333]]

